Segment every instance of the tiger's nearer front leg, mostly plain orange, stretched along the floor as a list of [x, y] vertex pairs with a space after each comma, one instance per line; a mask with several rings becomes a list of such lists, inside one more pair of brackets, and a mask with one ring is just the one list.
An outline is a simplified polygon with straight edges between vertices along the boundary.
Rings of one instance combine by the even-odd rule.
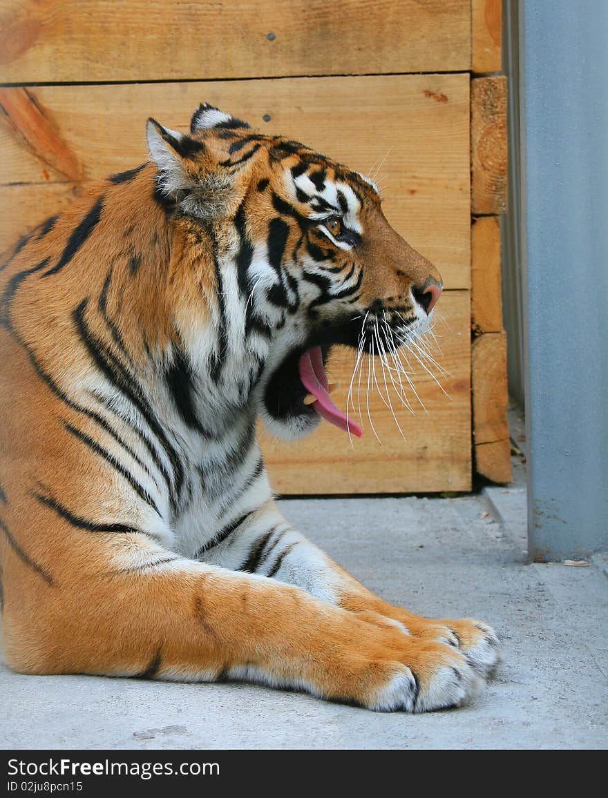
[[[14, 670], [235, 678], [384, 711], [457, 704], [475, 681], [454, 649], [409, 638], [380, 616], [129, 538], [86, 541], [86, 559], [73, 551], [61, 573], [7, 552], [4, 642]], [[26, 582], [28, 611], [18, 591]]]

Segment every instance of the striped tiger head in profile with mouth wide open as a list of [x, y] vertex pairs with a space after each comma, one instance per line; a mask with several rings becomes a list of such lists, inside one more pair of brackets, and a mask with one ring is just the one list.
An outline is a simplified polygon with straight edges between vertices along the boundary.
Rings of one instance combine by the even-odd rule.
[[427, 330], [442, 291], [387, 222], [376, 184], [208, 104], [189, 134], [150, 119], [147, 138], [176, 235], [213, 249], [217, 384], [238, 383], [280, 437], [320, 417], [360, 435], [329, 397], [329, 351], [390, 353]]

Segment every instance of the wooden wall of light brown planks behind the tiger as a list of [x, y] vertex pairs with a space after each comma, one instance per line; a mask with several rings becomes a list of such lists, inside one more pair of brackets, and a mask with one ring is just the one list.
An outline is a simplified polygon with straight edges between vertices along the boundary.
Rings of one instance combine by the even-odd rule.
[[[199, 101], [361, 172], [379, 168], [388, 219], [443, 275], [442, 370], [411, 362], [413, 412], [393, 395], [403, 437], [375, 388], [381, 443], [372, 432], [367, 363], [363, 439], [325, 423], [292, 444], [262, 433], [276, 489], [462, 491], [473, 451], [479, 471], [507, 480], [497, 238], [506, 86], [475, 74], [499, 69], [497, 0], [4, 0], [0, 249], [89, 181], [141, 163], [147, 117], [185, 129]], [[332, 363], [343, 408], [352, 362], [343, 351]]]

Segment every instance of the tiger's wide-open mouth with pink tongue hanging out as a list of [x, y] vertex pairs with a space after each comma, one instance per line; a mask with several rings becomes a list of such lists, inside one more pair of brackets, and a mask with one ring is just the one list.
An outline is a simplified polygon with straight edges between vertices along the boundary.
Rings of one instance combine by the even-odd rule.
[[328, 380], [325, 363], [336, 343], [356, 346], [360, 327], [334, 327], [293, 350], [272, 373], [264, 391], [264, 404], [277, 421], [311, 420], [320, 416], [344, 432], [361, 437], [362, 429], [336, 406], [330, 394], [336, 384]]

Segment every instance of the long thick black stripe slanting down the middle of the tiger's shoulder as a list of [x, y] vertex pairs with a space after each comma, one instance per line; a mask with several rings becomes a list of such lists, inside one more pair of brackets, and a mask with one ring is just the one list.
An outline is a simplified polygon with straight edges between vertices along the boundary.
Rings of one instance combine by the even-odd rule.
[[[184, 468], [177, 452], [169, 443], [162, 429], [160, 423], [157, 421], [153, 410], [149, 407], [148, 403], [143, 397], [141, 386], [133, 380], [133, 377], [125, 370], [125, 368], [117, 361], [113, 355], [105, 349], [97, 338], [94, 338], [90, 333], [89, 326], [85, 321], [85, 310], [89, 304], [88, 299], [83, 299], [76, 310], [74, 310], [74, 322], [77, 326], [78, 333], [84, 342], [86, 349], [97, 364], [101, 372], [107, 377], [112, 385], [115, 385], [121, 393], [129, 399], [129, 401], [139, 410], [141, 416], [144, 417], [145, 422], [152, 430], [153, 434], [159, 440], [162, 448], [165, 449], [169, 462], [173, 467], [174, 484], [177, 496], [181, 493], [181, 488], [184, 483]], [[175, 498], [171, 493], [171, 502], [174, 506]]]

